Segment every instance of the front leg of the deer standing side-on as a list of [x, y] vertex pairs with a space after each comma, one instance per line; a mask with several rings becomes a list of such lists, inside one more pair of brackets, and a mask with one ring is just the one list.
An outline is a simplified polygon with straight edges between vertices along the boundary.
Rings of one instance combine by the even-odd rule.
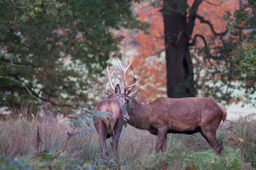
[[168, 132], [168, 129], [165, 127], [158, 129], [157, 144], [155, 145], [155, 154], [160, 152], [160, 149], [162, 150], [162, 152], [166, 150], [167, 132]]

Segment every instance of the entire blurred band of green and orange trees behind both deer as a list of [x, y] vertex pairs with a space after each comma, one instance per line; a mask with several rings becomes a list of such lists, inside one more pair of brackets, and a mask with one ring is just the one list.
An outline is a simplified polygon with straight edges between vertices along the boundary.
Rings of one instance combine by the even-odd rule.
[[139, 101], [255, 104], [255, 11], [253, 0], [1, 1], [0, 106], [90, 108], [113, 56], [133, 60]]

